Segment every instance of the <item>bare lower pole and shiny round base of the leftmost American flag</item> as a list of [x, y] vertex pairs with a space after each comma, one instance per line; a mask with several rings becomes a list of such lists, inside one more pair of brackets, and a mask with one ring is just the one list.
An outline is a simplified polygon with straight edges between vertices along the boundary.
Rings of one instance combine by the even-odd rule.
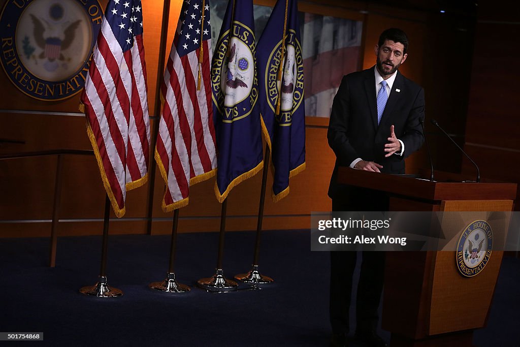
[[103, 243], [101, 246], [101, 266], [99, 280], [94, 286], [86, 286], [80, 289], [85, 295], [95, 295], [98, 298], [114, 298], [123, 295], [120, 289], [109, 287], [107, 283], [107, 253], [108, 253], [108, 223], [110, 221], [110, 199], [105, 198], [105, 219], [103, 220]]

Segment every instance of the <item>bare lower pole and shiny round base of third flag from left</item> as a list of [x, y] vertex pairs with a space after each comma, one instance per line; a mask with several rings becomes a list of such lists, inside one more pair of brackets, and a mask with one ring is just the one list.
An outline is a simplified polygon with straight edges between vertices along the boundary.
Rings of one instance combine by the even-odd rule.
[[222, 260], [224, 258], [224, 235], [226, 232], [226, 210], [227, 198], [222, 202], [222, 211], [220, 212], [220, 234], [218, 238], [218, 256], [216, 273], [212, 277], [201, 278], [197, 281], [197, 285], [202, 289], [213, 292], [227, 292], [237, 290], [237, 282], [224, 277], [222, 269]]

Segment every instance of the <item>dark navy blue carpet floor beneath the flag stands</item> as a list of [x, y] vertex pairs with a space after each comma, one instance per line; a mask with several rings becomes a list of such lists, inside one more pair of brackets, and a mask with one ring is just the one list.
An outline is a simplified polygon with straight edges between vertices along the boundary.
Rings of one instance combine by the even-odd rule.
[[[226, 277], [249, 271], [254, 237], [226, 234]], [[0, 331], [44, 332], [37, 345], [328, 346], [329, 253], [311, 252], [309, 237], [263, 233], [260, 270], [275, 283], [262, 290], [171, 295], [148, 288], [166, 275], [169, 235], [110, 236], [108, 281], [124, 292], [113, 299], [78, 292], [97, 280], [100, 236], [60, 237], [55, 268], [47, 267], [47, 238], [0, 239]], [[217, 233], [180, 234], [177, 280], [194, 286], [212, 276], [217, 243]], [[477, 347], [518, 345], [519, 268], [520, 260], [504, 259]]]

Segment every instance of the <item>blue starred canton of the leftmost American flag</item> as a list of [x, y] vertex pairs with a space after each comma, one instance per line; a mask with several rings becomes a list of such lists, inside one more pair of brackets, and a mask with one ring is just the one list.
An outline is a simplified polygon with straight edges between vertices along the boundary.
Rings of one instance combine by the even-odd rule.
[[105, 16], [123, 52], [132, 48], [134, 37], [142, 34], [141, 0], [112, 0]]

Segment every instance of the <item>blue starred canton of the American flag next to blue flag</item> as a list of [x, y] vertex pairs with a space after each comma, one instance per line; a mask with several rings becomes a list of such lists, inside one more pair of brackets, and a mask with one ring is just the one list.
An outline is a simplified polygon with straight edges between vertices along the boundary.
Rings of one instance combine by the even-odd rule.
[[[202, 9], [204, 25], [202, 25]], [[183, 56], [198, 49], [201, 40], [211, 38], [210, 6], [207, 4], [202, 6], [202, 0], [185, 0], [181, 13], [184, 14], [184, 18], [181, 19], [182, 25], [178, 31], [177, 53]]]

